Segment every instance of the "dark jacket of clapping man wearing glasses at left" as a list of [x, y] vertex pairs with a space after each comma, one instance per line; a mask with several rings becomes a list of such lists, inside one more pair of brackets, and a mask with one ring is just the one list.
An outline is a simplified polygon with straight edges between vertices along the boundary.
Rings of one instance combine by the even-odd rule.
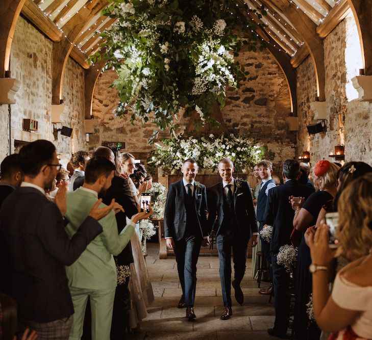
[[46, 323], [73, 314], [65, 266], [102, 231], [88, 216], [70, 240], [57, 205], [39, 190], [21, 187], [6, 198], [0, 213], [0, 248], [6, 257], [0, 260], [2, 268], [8, 266], [1, 280], [18, 304], [20, 319]]

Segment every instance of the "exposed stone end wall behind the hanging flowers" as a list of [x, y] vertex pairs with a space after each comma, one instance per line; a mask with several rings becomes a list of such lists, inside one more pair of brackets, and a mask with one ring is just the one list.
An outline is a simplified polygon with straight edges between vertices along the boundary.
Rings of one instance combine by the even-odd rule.
[[[238, 59], [250, 74], [238, 90], [227, 90], [222, 117], [229, 133], [249, 136], [274, 151], [275, 172], [280, 173], [283, 161], [294, 157], [296, 141], [295, 132], [290, 132], [285, 122], [290, 112], [290, 99], [284, 74], [267, 51], [242, 50]], [[123, 141], [128, 152], [150, 151], [148, 137], [154, 125], [141, 122], [132, 125], [130, 114], [123, 118], [114, 115], [119, 98], [117, 91], [109, 86], [115, 79], [116, 72], [112, 70], [98, 78], [92, 106], [97, 123], [95, 133], [90, 136], [90, 148], [104, 141]], [[181, 118], [179, 133], [185, 130], [188, 122], [189, 118]]]

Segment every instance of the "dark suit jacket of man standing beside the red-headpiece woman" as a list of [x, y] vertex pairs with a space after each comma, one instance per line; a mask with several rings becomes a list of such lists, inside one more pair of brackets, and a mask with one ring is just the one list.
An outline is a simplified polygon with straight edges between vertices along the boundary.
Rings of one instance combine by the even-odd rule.
[[264, 221], [265, 224], [272, 225], [270, 242], [272, 253], [277, 254], [281, 246], [290, 244], [294, 210], [288, 197], [293, 195], [308, 198], [313, 192], [314, 188], [300, 184], [293, 179], [268, 191]]

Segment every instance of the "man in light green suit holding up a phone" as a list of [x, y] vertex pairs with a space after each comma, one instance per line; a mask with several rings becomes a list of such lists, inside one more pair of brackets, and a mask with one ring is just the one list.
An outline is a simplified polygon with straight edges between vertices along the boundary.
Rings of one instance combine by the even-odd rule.
[[[105, 158], [92, 158], [86, 164], [85, 184], [67, 195], [66, 217], [69, 223], [66, 230], [70, 237], [88, 216], [91, 207], [98, 200], [98, 194], [104, 194], [111, 186], [114, 169], [115, 166]], [[105, 204], [102, 203], [100, 206]], [[122, 207], [116, 206], [116, 212], [119, 210], [122, 210]], [[112, 255], [119, 254], [128, 244], [136, 222], [150, 214], [134, 215], [131, 222], [118, 235], [115, 213], [111, 211], [98, 221], [103, 227], [103, 232], [89, 244], [75, 263], [66, 267], [75, 309], [70, 339], [80, 339], [83, 335], [88, 298], [92, 311], [92, 340], [110, 339], [116, 287], [116, 266]]]

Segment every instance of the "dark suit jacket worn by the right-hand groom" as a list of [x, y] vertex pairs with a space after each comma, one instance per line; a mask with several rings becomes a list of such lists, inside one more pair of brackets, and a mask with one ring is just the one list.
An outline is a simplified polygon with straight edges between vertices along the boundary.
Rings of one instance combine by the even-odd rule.
[[[209, 231], [214, 229], [216, 230], [216, 234], [218, 234], [222, 221], [224, 221], [224, 196], [222, 181], [208, 191]], [[251, 234], [257, 232], [257, 220], [248, 182], [234, 178], [233, 198], [237, 227], [242, 237], [249, 240]]]

